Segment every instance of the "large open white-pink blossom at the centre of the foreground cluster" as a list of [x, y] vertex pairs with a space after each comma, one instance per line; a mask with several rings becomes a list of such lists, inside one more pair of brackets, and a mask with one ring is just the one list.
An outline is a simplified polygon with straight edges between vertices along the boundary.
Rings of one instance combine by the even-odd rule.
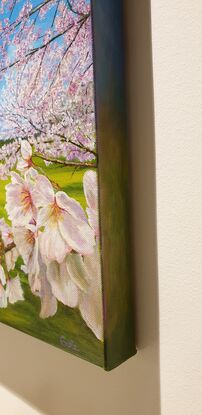
[[72, 250], [82, 255], [93, 252], [94, 233], [76, 200], [64, 192], [55, 194], [50, 181], [42, 175], [36, 178], [32, 198], [39, 208], [39, 226], [45, 226], [40, 238], [42, 257], [62, 263]]

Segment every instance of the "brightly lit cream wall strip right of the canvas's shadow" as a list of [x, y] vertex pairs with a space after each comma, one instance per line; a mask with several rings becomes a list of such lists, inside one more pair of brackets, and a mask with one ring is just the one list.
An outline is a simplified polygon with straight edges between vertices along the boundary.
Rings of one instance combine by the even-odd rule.
[[151, 4], [162, 415], [200, 415], [202, 1]]

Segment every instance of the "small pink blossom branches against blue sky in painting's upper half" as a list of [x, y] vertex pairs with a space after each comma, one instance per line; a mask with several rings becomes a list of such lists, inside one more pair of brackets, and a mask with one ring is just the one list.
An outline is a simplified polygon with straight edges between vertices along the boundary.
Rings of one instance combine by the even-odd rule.
[[90, 2], [9, 0], [1, 12], [0, 178], [19, 139], [47, 161], [95, 160]]

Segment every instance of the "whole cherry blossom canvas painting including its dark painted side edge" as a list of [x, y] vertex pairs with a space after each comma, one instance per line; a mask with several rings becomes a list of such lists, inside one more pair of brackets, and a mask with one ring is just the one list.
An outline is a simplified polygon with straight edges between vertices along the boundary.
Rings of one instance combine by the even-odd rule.
[[122, 1], [0, 2], [0, 322], [135, 353]]

